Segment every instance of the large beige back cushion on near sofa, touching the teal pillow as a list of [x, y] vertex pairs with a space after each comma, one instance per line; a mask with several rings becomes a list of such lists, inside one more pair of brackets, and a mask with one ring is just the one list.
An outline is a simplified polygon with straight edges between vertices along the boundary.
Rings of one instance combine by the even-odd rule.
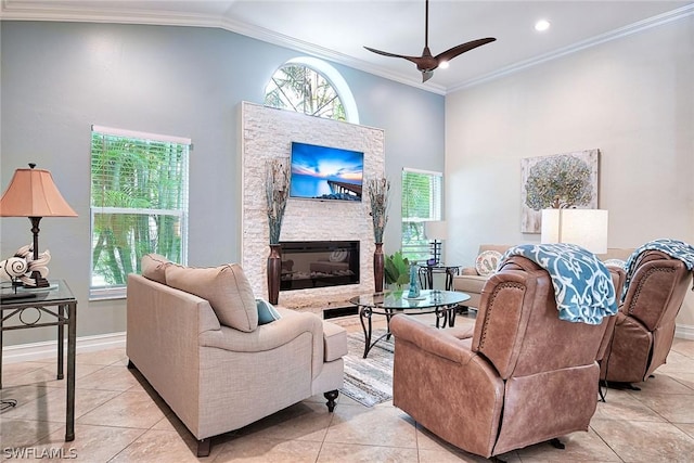
[[219, 322], [243, 332], [258, 327], [258, 308], [250, 283], [237, 263], [220, 267], [166, 268], [169, 286], [207, 299]]

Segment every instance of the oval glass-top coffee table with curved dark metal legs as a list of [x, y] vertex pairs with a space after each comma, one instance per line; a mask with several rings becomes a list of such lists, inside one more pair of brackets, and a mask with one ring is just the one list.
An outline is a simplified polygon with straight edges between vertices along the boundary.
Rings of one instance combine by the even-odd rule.
[[[390, 338], [390, 319], [397, 313], [421, 314], [436, 313], [436, 327], [453, 326], [458, 305], [470, 299], [470, 295], [458, 291], [423, 290], [420, 297], [410, 299], [408, 291], [390, 291], [385, 293], [362, 294], [349, 299], [359, 307], [359, 321], [364, 331], [364, 356], [384, 337]], [[386, 317], [388, 329], [375, 340], [371, 340], [373, 314]]]

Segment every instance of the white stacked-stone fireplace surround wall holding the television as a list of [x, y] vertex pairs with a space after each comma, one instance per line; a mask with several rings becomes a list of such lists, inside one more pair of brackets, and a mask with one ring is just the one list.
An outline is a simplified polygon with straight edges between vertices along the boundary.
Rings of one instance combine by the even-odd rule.
[[[265, 198], [267, 160], [290, 162], [291, 142], [333, 146], [364, 153], [364, 180], [385, 172], [384, 131], [306, 116], [243, 102], [241, 104], [242, 239], [241, 262], [253, 291], [267, 297], [267, 258], [270, 254]], [[360, 242], [359, 284], [280, 292], [280, 305], [320, 310], [373, 291], [373, 227], [364, 189], [361, 203], [290, 198], [280, 241]]]

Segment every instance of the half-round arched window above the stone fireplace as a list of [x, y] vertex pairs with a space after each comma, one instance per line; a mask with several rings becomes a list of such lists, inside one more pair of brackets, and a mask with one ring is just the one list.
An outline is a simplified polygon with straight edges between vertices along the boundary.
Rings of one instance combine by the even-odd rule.
[[274, 72], [265, 104], [327, 119], [359, 124], [355, 98], [339, 73], [313, 57], [297, 57]]

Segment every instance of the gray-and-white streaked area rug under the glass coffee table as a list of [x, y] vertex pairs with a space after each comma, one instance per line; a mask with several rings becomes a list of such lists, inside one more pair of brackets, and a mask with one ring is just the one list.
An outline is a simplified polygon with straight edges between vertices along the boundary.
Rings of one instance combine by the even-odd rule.
[[[374, 330], [372, 339], [385, 334], [385, 330]], [[345, 385], [340, 389], [345, 396], [373, 407], [393, 398], [393, 352], [394, 338], [385, 337], [364, 353], [364, 334], [361, 331], [347, 334], [347, 356], [345, 361]]]

